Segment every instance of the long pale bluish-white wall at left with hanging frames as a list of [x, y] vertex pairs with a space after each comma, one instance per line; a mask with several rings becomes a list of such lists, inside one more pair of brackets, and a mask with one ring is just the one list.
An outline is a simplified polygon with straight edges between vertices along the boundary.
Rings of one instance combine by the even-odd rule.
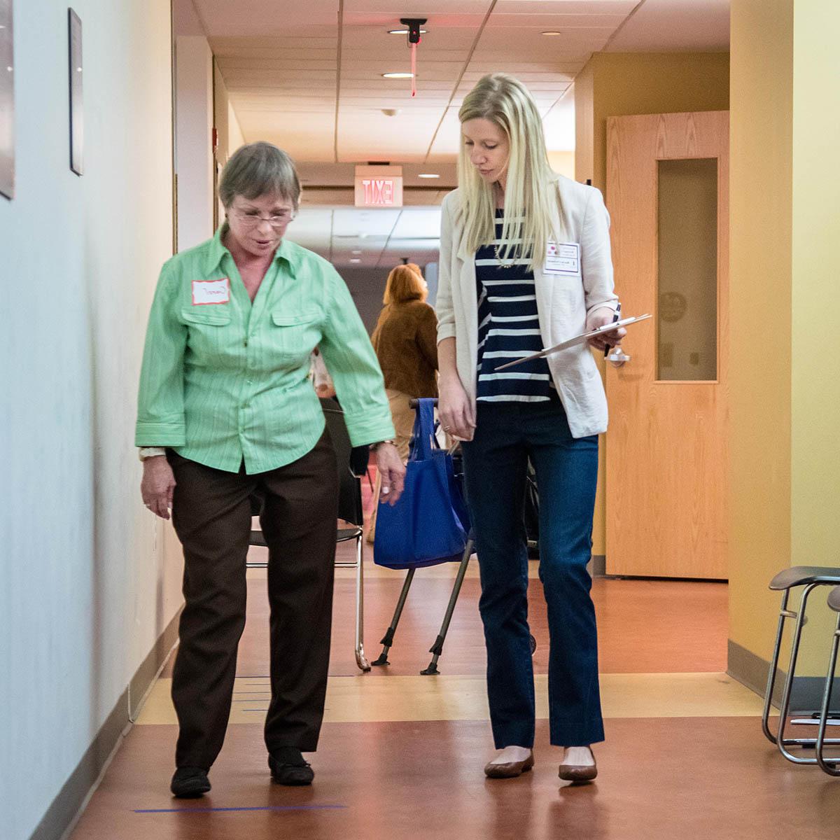
[[[0, 198], [0, 837], [24, 840], [181, 603], [139, 500], [145, 320], [171, 255], [169, 0], [15, 3], [17, 197]], [[171, 540], [171, 538], [168, 538]]]

